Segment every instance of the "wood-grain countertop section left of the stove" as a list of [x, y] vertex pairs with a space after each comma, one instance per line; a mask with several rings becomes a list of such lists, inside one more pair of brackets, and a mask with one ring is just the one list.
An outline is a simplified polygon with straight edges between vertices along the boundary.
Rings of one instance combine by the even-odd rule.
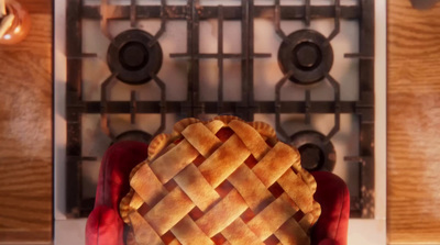
[[52, 1], [22, 0], [32, 27], [0, 45], [0, 244], [52, 243]]

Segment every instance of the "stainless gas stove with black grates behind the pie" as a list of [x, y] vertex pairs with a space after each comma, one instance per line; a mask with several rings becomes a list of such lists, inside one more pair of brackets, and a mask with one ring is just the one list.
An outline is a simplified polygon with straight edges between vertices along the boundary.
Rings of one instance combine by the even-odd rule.
[[382, 1], [55, 5], [55, 242], [84, 227], [108, 146], [233, 114], [272, 124], [306, 169], [344, 179], [350, 244], [385, 243]]

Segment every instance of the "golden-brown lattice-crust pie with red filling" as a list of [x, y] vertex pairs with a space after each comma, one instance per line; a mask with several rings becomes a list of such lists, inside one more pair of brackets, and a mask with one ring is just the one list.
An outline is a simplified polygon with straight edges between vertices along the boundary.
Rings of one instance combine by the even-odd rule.
[[130, 176], [128, 244], [310, 244], [321, 208], [297, 149], [262, 122], [185, 119]]

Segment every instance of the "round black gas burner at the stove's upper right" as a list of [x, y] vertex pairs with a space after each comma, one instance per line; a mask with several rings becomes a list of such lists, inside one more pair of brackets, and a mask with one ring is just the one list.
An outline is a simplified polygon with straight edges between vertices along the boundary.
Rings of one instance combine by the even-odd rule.
[[290, 33], [278, 49], [278, 64], [283, 73], [293, 71], [289, 78], [298, 85], [316, 83], [333, 65], [333, 48], [319, 32], [300, 30]]

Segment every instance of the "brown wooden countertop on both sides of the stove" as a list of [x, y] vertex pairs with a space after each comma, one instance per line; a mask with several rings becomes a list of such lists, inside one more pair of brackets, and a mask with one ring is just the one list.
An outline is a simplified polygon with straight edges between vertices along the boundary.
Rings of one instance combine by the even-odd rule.
[[[0, 244], [52, 242], [52, 1], [0, 46]], [[389, 244], [440, 243], [440, 4], [388, 1]]]

